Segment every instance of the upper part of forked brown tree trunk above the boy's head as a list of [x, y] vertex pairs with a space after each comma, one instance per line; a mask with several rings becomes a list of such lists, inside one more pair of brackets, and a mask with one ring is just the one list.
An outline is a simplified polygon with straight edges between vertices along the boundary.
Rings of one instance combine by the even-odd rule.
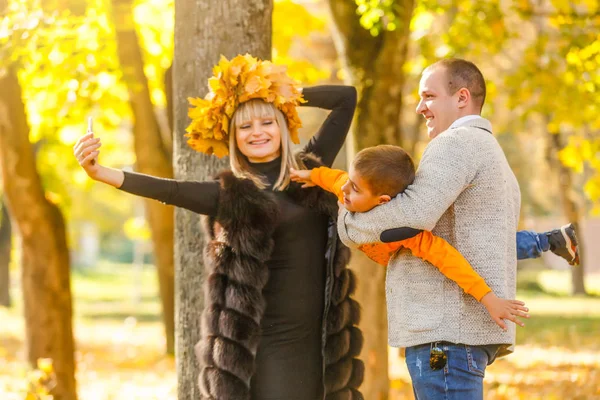
[[359, 101], [354, 124], [354, 148], [402, 144], [403, 66], [408, 54], [414, 0], [395, 6], [399, 26], [373, 37], [360, 25], [356, 4], [329, 0], [335, 23], [334, 42], [347, 82], [356, 86]]

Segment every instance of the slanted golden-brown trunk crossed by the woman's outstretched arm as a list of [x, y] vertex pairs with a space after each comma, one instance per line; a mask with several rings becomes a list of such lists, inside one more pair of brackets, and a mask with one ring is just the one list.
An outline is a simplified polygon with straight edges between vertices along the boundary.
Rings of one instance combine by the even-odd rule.
[[[163, 178], [173, 177], [170, 146], [163, 141], [160, 126], [150, 98], [144, 61], [133, 21], [132, 0], [113, 0], [113, 16], [117, 32], [117, 48], [123, 78], [129, 88], [133, 111], [134, 149], [137, 169]], [[154, 200], [144, 201], [146, 219], [152, 233], [154, 259], [167, 338], [167, 353], [174, 352], [175, 287], [173, 267], [173, 207]]]

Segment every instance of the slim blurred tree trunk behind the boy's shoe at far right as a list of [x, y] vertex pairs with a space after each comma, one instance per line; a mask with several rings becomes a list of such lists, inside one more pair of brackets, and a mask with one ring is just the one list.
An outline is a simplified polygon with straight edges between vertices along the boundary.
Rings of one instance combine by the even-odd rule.
[[[564, 166], [558, 159], [558, 152], [564, 148], [564, 143], [560, 132], [550, 132], [550, 142], [552, 147], [552, 162], [558, 170], [559, 195], [563, 206], [563, 212], [567, 221], [571, 222], [576, 232], [580, 232], [581, 209], [574, 199], [573, 191], [573, 170]], [[583, 241], [579, 237], [579, 265], [571, 267], [571, 282], [573, 284], [573, 294], [586, 295], [585, 290], [585, 269], [584, 269], [584, 248]]]

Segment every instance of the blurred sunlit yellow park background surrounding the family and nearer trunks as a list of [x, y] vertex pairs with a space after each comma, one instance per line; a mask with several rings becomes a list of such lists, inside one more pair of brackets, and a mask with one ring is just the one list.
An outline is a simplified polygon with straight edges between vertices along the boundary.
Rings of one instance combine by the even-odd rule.
[[[354, 12], [337, 13], [342, 3]], [[83, 400], [176, 398], [144, 203], [94, 183], [72, 155], [92, 116], [102, 163], [137, 169], [133, 92], [152, 106], [144, 118], [162, 138], [156, 152], [171, 153], [172, 135], [183, 134], [171, 133], [166, 95], [173, 8], [173, 0], [0, 0], [0, 165], [10, 167], [21, 151], [11, 138], [28, 135], [44, 196], [64, 216]], [[124, 35], [132, 31], [137, 36]], [[126, 40], [133, 50], [119, 54]], [[579, 267], [552, 253], [519, 263], [518, 298], [532, 318], [518, 331], [516, 352], [488, 369], [486, 399], [600, 398], [598, 0], [274, 2], [273, 61], [304, 86], [353, 84], [362, 95], [355, 139], [338, 158], [340, 167], [357, 148], [378, 143], [401, 145], [418, 160], [427, 145], [414, 113], [419, 74], [447, 56], [474, 61], [487, 79], [484, 116], [519, 179], [521, 228], [543, 232], [573, 222], [582, 243]], [[131, 78], [135, 66], [143, 68], [147, 90]], [[389, 132], [365, 128], [379, 126], [376, 113], [386, 105], [369, 94], [375, 81], [401, 91], [397, 126]], [[26, 125], [11, 124], [23, 111]], [[300, 113], [306, 140], [326, 112]], [[34, 175], [6, 168], [4, 187], [35, 186]], [[46, 399], [53, 372], [27, 362], [21, 275], [27, 255], [17, 218], [11, 224], [6, 214], [5, 191], [0, 186], [0, 398]], [[15, 197], [11, 207], [31, 207], [26, 211], [37, 215], [26, 197]], [[380, 354], [362, 357], [370, 368]], [[388, 359], [387, 398], [411, 399], [404, 359], [397, 349]]]

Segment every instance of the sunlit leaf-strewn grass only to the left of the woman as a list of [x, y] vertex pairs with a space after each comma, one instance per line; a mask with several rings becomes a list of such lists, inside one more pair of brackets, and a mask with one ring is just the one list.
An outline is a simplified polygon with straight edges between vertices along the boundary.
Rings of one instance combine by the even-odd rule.
[[[164, 354], [156, 272], [101, 262], [71, 276], [80, 400], [176, 398], [175, 361]], [[0, 308], [0, 399], [22, 400], [30, 368], [18, 275], [14, 306]]]

